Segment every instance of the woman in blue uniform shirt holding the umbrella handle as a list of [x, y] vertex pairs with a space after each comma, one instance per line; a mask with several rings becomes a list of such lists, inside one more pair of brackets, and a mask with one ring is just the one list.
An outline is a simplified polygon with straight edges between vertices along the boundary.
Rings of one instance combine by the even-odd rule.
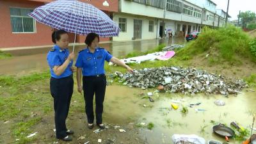
[[47, 54], [48, 65], [51, 70], [50, 89], [54, 99], [54, 120], [56, 138], [63, 141], [71, 141], [74, 131], [66, 127], [66, 118], [70, 100], [73, 94], [74, 81], [72, 64], [74, 52], [68, 52], [68, 34], [58, 30], [52, 33], [52, 42], [55, 44]]

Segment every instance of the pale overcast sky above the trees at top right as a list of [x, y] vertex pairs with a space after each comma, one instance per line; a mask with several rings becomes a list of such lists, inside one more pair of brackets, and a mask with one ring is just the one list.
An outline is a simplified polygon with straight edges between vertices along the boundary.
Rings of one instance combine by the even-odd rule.
[[[225, 12], [227, 11], [228, 0], [212, 0], [217, 4], [218, 9], [222, 9]], [[228, 15], [231, 16], [230, 20], [237, 19], [237, 15], [239, 14], [239, 10], [241, 12], [245, 12], [246, 10], [251, 10], [252, 12], [256, 12], [256, 1], [255, 0], [229, 0], [229, 8]]]

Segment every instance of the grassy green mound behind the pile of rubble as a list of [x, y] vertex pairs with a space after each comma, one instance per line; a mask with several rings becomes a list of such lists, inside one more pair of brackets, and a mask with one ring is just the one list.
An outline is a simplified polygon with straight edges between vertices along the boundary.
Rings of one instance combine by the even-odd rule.
[[204, 28], [198, 39], [189, 42], [184, 49], [178, 52], [178, 56], [195, 58], [206, 56], [208, 65], [243, 65], [244, 60], [256, 62], [256, 56], [250, 49], [251, 38], [241, 29], [235, 26], [227, 28]]

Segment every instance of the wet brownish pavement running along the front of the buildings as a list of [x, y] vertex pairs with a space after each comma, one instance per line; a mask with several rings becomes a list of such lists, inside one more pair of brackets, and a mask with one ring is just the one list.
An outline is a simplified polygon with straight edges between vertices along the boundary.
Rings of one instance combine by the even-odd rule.
[[[132, 51], [145, 52], [149, 49], [154, 49], [160, 44], [184, 44], [183, 38], [168, 39], [154, 39], [154, 40], [140, 40], [140, 41], [129, 41], [129, 42], [108, 42], [100, 44], [100, 47], [107, 49], [113, 56], [125, 56]], [[76, 45], [75, 53], [84, 49], [85, 45]], [[12, 54], [13, 58], [0, 60], [0, 74], [15, 74], [15, 73], [26, 73], [28, 71], [40, 71], [47, 70], [46, 54], [51, 47], [36, 48], [36, 49], [22, 49], [5, 51]], [[69, 47], [72, 51], [72, 47]]]

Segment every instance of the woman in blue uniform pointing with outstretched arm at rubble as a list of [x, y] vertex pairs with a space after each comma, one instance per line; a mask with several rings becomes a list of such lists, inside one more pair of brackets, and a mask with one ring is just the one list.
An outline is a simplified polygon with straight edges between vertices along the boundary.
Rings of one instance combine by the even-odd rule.
[[[96, 124], [100, 129], [104, 129], [102, 124], [103, 101], [106, 91], [104, 61], [111, 61], [116, 65], [126, 68], [129, 72], [133, 72], [133, 70], [125, 65], [124, 62], [111, 56], [105, 49], [98, 47], [99, 35], [96, 33], [89, 33], [84, 42], [88, 47], [79, 52], [76, 61], [77, 90], [80, 93], [84, 91], [88, 128], [93, 128], [93, 95], [95, 94]], [[81, 74], [83, 74], [83, 86], [81, 84]]]

